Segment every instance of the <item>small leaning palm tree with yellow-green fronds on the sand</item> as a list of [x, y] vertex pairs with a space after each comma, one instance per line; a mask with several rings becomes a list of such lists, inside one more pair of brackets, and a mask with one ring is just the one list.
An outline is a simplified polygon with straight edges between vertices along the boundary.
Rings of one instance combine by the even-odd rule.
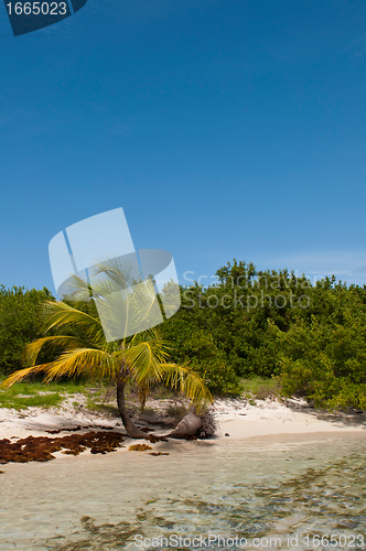
[[[151, 309], [139, 315], [141, 295], [138, 296], [138, 301], [134, 300], [134, 303], [133, 300], [125, 300], [121, 304], [120, 296], [118, 302], [117, 293], [121, 289], [126, 290], [127, 277], [126, 269], [121, 263], [116, 262], [116, 259], [99, 262], [95, 274], [100, 276], [100, 273], [105, 276], [105, 279], [101, 281], [99, 279], [97, 284], [93, 285], [92, 299], [90, 283], [76, 276], [71, 278], [74, 285], [73, 298], [78, 300], [87, 298], [90, 304], [88, 309], [82, 310], [80, 303], [71, 305], [68, 301], [43, 303], [39, 313], [39, 323], [45, 336], [33, 341], [24, 348], [23, 363], [26, 367], [8, 377], [1, 387], [9, 388], [24, 377], [41, 371], [45, 374], [45, 382], [64, 376], [79, 375], [94, 379], [107, 379], [116, 386], [119, 413], [128, 435], [133, 439], [146, 437], [146, 433], [134, 425], [127, 412], [125, 389], [128, 381], [137, 385], [142, 406], [151, 387], [164, 383], [186, 396], [195, 412], [202, 414], [213, 401], [208, 389], [202, 378], [187, 365], [179, 366], [168, 361], [168, 345], [155, 327], [120, 339], [110, 339], [98, 312], [104, 309], [104, 321], [109, 316], [108, 326], [110, 327], [116, 321], [116, 312], [125, 307], [127, 315], [123, 315], [123, 321], [129, 320], [128, 323], [126, 322], [126, 327], [128, 326], [129, 329], [125, 327], [125, 333], [127, 333], [133, 325], [137, 328], [141, 327], [143, 318], [151, 315]], [[129, 279], [131, 281], [131, 278]], [[146, 283], [148, 284], [144, 285], [143, 291], [144, 305], [147, 293], [155, 298], [153, 284], [149, 281]], [[98, 311], [95, 307], [96, 300], [100, 302]], [[127, 304], [128, 302], [130, 304]], [[72, 329], [72, 335], [64, 334], [65, 328]], [[50, 332], [58, 334], [47, 335]], [[52, 354], [54, 359], [37, 364], [41, 352]], [[174, 436], [173, 433], [172, 436]]]

